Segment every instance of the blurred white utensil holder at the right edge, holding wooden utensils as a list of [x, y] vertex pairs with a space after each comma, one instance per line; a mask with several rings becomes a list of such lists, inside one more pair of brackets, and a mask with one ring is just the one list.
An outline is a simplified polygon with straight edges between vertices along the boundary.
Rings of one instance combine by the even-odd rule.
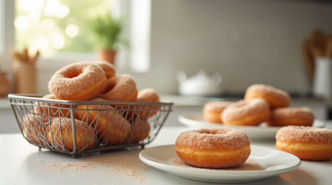
[[315, 59], [312, 93], [314, 96], [332, 99], [332, 58]]

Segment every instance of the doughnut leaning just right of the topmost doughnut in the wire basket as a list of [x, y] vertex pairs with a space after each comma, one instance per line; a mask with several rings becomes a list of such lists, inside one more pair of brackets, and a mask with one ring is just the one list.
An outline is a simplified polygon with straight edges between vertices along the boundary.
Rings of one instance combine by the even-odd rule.
[[99, 96], [108, 101], [135, 101], [137, 97], [136, 83], [130, 75], [109, 78], [106, 88]]

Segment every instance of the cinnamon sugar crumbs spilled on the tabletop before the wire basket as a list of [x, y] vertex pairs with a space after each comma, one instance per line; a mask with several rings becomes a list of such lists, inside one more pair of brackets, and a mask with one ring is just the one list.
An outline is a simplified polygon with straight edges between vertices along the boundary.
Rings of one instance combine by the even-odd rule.
[[[40, 159], [36, 160], [37, 163]], [[39, 162], [41, 163], [41, 162]], [[112, 175], [124, 175], [131, 177], [132, 180], [136, 180], [141, 183], [147, 176], [143, 174], [144, 171], [149, 170], [142, 166], [141, 161], [137, 157], [131, 156], [112, 156], [112, 157], [100, 157], [90, 158], [85, 161], [76, 162], [51, 162], [41, 166], [33, 166], [39, 170], [55, 170], [58, 172], [70, 172], [77, 175], [82, 175], [80, 171], [97, 171], [99, 174], [110, 173]]]

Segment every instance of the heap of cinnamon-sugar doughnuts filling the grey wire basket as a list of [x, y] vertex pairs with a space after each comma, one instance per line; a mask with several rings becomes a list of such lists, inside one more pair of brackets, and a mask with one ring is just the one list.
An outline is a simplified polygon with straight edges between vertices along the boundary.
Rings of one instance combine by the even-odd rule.
[[[148, 88], [137, 91], [130, 75], [116, 76], [114, 66], [105, 61], [76, 62], [61, 68], [50, 79], [48, 90], [51, 94], [42, 98], [159, 102], [155, 90]], [[103, 145], [142, 141], [150, 132], [147, 119], [159, 109], [156, 106], [94, 103], [75, 105], [74, 114], [71, 114], [70, 105], [45, 102], [35, 104], [32, 114], [23, 120], [28, 140], [38, 145], [44, 145], [46, 141], [51, 146], [68, 151], [74, 148], [73, 133], [76, 133], [77, 151], [91, 149], [98, 140]], [[72, 116], [75, 121], [74, 131], [70, 119]], [[41, 133], [43, 137], [36, 133]]]

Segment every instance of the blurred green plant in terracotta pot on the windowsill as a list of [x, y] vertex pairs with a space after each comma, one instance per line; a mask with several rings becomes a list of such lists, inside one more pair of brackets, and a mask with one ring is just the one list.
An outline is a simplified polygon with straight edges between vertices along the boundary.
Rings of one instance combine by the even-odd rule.
[[123, 20], [113, 18], [108, 13], [90, 20], [88, 28], [93, 33], [93, 42], [99, 47], [99, 59], [114, 64], [119, 46], [127, 45], [122, 38]]

